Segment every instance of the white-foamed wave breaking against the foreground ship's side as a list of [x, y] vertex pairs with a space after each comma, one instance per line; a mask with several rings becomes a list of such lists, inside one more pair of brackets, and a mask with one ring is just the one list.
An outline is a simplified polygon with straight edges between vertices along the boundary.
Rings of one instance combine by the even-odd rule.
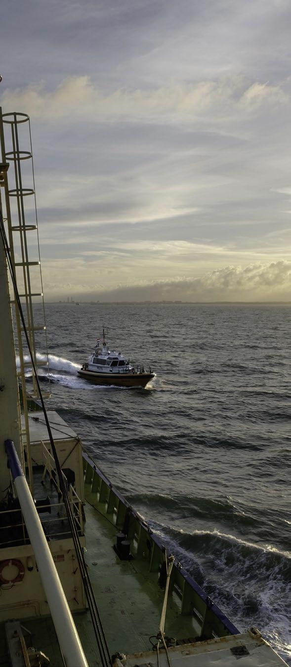
[[252, 625], [260, 628], [288, 660], [290, 552], [270, 544], [260, 546], [219, 530], [188, 533], [149, 523], [162, 538], [167, 552], [175, 554], [240, 631]]

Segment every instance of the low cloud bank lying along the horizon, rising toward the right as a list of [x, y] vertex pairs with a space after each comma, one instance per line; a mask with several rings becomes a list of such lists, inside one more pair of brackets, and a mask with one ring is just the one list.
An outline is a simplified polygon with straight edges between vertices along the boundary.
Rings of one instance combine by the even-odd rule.
[[[80, 264], [80, 262], [79, 262]], [[77, 270], [81, 266], [77, 265]], [[45, 273], [51, 275], [51, 267]], [[73, 275], [73, 274], [72, 274]], [[107, 275], [103, 276], [105, 283]], [[228, 265], [195, 278], [160, 280], [136, 285], [121, 285], [106, 289], [105, 285], [94, 286], [83, 281], [85, 270], [81, 269], [79, 289], [75, 296], [100, 301], [290, 301], [291, 261], [276, 261], [268, 264], [253, 263], [246, 267]], [[59, 283], [46, 282], [49, 296], [60, 294]], [[73, 281], [66, 280], [62, 296], [71, 295]]]

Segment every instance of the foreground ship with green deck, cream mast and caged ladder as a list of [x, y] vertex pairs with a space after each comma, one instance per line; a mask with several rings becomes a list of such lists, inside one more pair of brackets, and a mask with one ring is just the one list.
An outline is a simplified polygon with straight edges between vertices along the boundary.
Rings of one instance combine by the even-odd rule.
[[45, 322], [33, 317], [43, 289], [39, 255], [29, 245], [37, 221], [25, 208], [34, 197], [23, 174], [23, 163], [32, 165], [31, 146], [21, 143], [25, 129], [26, 115], [0, 110], [1, 665], [284, 664], [257, 630], [239, 633], [83, 451], [79, 436], [46, 409], [37, 376], [37, 331], [45, 333]]

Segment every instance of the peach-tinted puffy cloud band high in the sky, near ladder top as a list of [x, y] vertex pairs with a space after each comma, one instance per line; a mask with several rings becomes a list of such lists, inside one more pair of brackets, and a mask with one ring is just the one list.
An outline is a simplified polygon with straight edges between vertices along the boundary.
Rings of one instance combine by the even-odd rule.
[[7, 89], [2, 95], [5, 108], [25, 109], [32, 118], [54, 120], [61, 117], [192, 118], [216, 111], [254, 113], [265, 105], [278, 107], [289, 101], [280, 85], [248, 83], [238, 75], [215, 81], [198, 81], [168, 87], [116, 89], [104, 93], [88, 76], [67, 77], [53, 91], [42, 83]]

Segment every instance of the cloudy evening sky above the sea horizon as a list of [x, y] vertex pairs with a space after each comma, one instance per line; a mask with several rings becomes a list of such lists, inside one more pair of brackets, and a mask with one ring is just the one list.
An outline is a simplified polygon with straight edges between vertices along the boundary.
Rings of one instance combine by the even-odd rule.
[[289, 0], [3, 3], [47, 300], [290, 301], [290, 25]]

